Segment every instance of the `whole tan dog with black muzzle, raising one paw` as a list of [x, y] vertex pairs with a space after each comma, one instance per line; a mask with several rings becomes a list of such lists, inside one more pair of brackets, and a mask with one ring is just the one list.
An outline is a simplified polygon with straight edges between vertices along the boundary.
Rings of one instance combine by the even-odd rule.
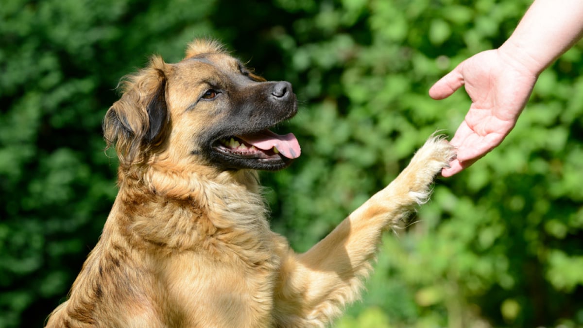
[[129, 76], [103, 124], [120, 191], [48, 326], [325, 326], [359, 298], [382, 232], [427, 199], [454, 151], [430, 138], [394, 182], [296, 254], [269, 229], [255, 171], [300, 155], [293, 135], [267, 130], [296, 110], [289, 83], [265, 82], [213, 41]]

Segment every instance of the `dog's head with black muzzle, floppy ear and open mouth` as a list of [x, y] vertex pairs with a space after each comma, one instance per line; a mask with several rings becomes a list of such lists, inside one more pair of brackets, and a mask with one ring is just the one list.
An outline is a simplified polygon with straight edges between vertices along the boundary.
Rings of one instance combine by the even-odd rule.
[[194, 41], [176, 64], [154, 56], [122, 90], [103, 122], [122, 167], [164, 156], [222, 170], [278, 170], [300, 155], [293, 134], [268, 130], [297, 112], [290, 83], [252, 74], [215, 41]]

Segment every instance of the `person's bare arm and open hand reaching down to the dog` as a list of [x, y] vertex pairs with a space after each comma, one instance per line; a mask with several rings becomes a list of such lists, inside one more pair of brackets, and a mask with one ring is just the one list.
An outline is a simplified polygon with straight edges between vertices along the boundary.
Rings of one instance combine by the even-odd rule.
[[463, 85], [472, 100], [451, 140], [458, 158], [443, 176], [467, 168], [504, 140], [540, 73], [582, 33], [583, 1], [536, 0], [502, 46], [468, 58], [431, 87], [431, 97], [444, 99]]

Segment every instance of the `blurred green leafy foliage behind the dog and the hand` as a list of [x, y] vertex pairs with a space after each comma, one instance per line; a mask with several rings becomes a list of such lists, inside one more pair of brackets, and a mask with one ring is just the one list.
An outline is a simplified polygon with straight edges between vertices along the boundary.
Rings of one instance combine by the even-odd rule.
[[[500, 46], [530, 0], [3, 0], [0, 5], [0, 327], [40, 327], [113, 204], [101, 119], [151, 54], [223, 41], [293, 83], [303, 155], [262, 173], [275, 231], [303, 252], [388, 184], [470, 101], [427, 90]], [[545, 45], [541, 45], [544, 47]], [[363, 301], [336, 327], [583, 326], [583, 61], [547, 69], [518, 125], [440, 179], [389, 232]]]

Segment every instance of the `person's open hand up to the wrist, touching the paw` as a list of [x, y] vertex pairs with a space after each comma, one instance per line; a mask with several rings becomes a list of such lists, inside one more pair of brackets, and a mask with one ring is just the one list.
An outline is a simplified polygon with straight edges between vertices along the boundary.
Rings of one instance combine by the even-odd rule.
[[457, 158], [442, 170], [442, 176], [461, 172], [500, 145], [514, 128], [537, 79], [512, 55], [496, 49], [468, 58], [431, 87], [433, 99], [444, 99], [463, 85], [472, 100], [451, 139]]

